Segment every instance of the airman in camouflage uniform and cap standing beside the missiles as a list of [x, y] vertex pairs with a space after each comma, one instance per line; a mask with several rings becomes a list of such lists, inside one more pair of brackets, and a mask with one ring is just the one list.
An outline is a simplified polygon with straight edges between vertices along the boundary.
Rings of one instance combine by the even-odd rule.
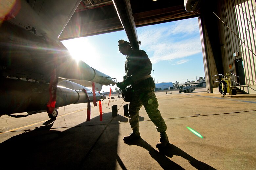
[[155, 95], [155, 83], [150, 76], [152, 64], [147, 54], [143, 50], [133, 51], [130, 43], [119, 40], [119, 51], [126, 55], [125, 73], [123, 82], [118, 82], [120, 89], [132, 86], [132, 101], [129, 105], [130, 125], [133, 132], [123, 138], [124, 141], [140, 139], [139, 133], [139, 110], [144, 106], [150, 120], [155, 124], [157, 131], [160, 132], [160, 141], [156, 147], [161, 148], [169, 143], [166, 129], [167, 126], [158, 110], [158, 101]]

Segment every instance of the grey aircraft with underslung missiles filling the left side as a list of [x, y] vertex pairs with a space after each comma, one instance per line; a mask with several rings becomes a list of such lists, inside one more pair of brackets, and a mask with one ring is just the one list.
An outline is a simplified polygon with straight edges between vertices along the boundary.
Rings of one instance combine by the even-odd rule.
[[[79, 3], [74, 0], [65, 3], [60, 0], [0, 1], [1, 9], [5, 9], [0, 13], [0, 99], [3, 101], [0, 115], [45, 110], [53, 70], [60, 80], [116, 83], [85, 62], [72, 59], [58, 40]], [[81, 90], [58, 86], [56, 93], [56, 107], [91, 102]], [[100, 98], [97, 94], [97, 100]]]

